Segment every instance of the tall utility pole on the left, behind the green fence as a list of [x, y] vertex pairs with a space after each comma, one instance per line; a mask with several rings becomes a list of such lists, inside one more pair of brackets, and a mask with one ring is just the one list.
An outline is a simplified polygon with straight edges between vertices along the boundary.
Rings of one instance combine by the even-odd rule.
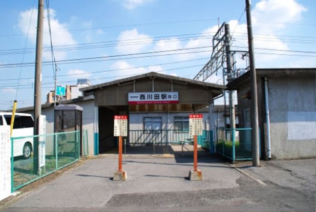
[[[35, 56], [35, 87], [34, 87], [34, 135], [38, 135], [38, 120], [41, 115], [41, 55], [43, 48], [44, 0], [38, 1], [36, 56]], [[33, 142], [33, 172], [38, 173], [38, 139]]]

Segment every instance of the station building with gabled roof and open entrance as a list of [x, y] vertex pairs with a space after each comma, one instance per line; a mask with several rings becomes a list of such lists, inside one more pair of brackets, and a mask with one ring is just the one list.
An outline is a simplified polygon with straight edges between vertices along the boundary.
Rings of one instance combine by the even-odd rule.
[[[188, 114], [203, 114], [203, 130], [213, 129], [213, 99], [225, 86], [150, 72], [79, 89], [82, 96], [59, 102], [82, 108], [82, 129], [88, 131], [89, 155], [117, 146], [114, 115], [128, 115], [128, 145], [170, 145], [188, 142]], [[17, 112], [33, 113], [33, 107]], [[54, 104], [42, 105], [46, 132], [54, 131]], [[72, 128], [64, 126], [64, 130]], [[209, 135], [208, 135], [209, 136]]]

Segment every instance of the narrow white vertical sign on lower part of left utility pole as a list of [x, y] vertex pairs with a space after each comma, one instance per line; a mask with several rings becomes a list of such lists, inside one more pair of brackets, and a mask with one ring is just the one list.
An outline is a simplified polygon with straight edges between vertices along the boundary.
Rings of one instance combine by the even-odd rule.
[[38, 118], [38, 167], [45, 166], [45, 134], [46, 134], [46, 116], [39, 115]]

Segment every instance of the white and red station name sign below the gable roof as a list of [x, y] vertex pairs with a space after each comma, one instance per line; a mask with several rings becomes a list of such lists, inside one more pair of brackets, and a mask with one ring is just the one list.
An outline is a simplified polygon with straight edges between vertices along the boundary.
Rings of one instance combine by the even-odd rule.
[[178, 92], [133, 92], [129, 93], [129, 104], [178, 104]]

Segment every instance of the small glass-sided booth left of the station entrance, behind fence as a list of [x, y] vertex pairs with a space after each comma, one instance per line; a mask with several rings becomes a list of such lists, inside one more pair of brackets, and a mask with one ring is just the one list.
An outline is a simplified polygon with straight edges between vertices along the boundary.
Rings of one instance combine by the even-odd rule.
[[[76, 104], [59, 104], [55, 107], [54, 124], [55, 133], [79, 131], [80, 156], [82, 156], [82, 108]], [[61, 137], [65, 137], [60, 139], [65, 140], [64, 143], [63, 141], [59, 143], [62, 154], [72, 152], [71, 142], [77, 143], [76, 138], [68, 139], [67, 134], [61, 134]]]

